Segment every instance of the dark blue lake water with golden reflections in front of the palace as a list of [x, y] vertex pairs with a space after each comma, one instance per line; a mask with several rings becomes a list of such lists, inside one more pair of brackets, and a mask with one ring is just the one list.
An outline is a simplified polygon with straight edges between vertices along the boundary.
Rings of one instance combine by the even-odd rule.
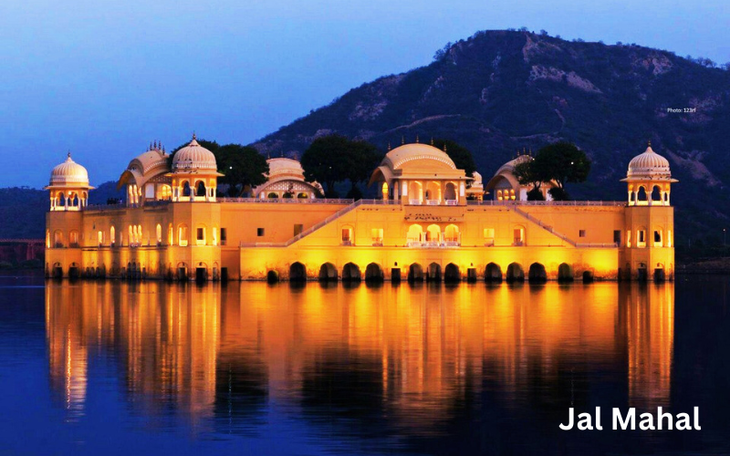
[[[0, 454], [727, 453], [729, 282], [0, 276]], [[657, 406], [702, 430], [610, 430]]]

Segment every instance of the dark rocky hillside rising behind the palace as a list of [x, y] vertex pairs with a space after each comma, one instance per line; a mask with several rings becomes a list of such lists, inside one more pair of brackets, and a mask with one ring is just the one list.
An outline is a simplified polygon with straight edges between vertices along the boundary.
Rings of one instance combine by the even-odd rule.
[[516, 150], [570, 140], [593, 171], [569, 190], [604, 200], [625, 198], [619, 180], [652, 140], [681, 181], [673, 192], [678, 242], [718, 242], [730, 224], [730, 72], [668, 51], [479, 32], [426, 67], [353, 88], [255, 146], [301, 154], [332, 132], [383, 150], [401, 138], [456, 140], [474, 152], [485, 178]]

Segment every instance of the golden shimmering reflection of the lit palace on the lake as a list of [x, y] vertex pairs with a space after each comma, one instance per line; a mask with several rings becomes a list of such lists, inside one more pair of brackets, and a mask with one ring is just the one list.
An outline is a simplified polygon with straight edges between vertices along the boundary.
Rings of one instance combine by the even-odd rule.
[[134, 408], [193, 424], [254, 417], [276, 402], [387, 411], [422, 427], [486, 389], [506, 410], [530, 407], [533, 395], [580, 400], [589, 394], [580, 378], [594, 371], [619, 373], [627, 406], [670, 398], [671, 284], [152, 282], [48, 284], [46, 293], [51, 389], [70, 416], [84, 413], [89, 367], [102, 361]]

